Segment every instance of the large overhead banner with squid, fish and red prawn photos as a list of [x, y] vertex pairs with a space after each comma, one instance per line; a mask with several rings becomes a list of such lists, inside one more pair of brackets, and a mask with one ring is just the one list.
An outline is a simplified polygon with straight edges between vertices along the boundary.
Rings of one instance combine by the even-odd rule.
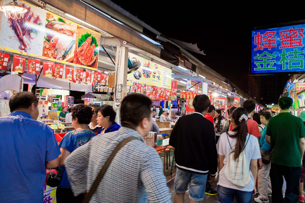
[[100, 33], [27, 2], [16, 2], [27, 12], [20, 19], [2, 17], [2, 50], [97, 69]]

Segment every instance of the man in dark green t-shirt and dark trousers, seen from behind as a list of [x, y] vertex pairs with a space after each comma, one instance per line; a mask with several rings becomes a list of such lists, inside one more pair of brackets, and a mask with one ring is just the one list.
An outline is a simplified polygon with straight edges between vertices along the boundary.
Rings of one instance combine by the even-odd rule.
[[290, 113], [292, 99], [282, 97], [278, 104], [282, 113], [269, 120], [266, 141], [271, 145], [270, 179], [272, 202], [283, 202], [282, 186], [285, 177], [285, 202], [297, 202], [302, 158], [305, 150], [303, 120]]

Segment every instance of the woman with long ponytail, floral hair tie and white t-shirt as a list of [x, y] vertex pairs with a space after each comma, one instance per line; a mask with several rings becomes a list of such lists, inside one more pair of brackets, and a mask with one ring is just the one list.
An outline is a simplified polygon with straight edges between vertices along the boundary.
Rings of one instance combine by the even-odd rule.
[[[256, 194], [257, 159], [261, 158], [257, 138], [248, 134], [248, 114], [239, 107], [231, 114], [234, 129], [223, 133], [217, 144], [219, 156], [218, 201], [221, 203], [251, 203]], [[242, 171], [232, 169], [233, 165], [243, 164]], [[231, 170], [228, 170], [231, 169]], [[228, 175], [231, 173], [231, 176]], [[243, 186], [238, 180], [248, 180]], [[237, 182], [236, 182], [237, 180]]]

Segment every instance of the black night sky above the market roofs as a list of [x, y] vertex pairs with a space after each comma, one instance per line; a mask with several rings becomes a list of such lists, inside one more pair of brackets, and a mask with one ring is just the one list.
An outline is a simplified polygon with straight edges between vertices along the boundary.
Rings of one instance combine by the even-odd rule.
[[[242, 9], [242, 5], [208, 6], [199, 1], [158, 1], [158, 4], [137, 0], [132, 4], [131, 1], [113, 2], [166, 37], [197, 43], [206, 55], [192, 54], [247, 93], [251, 30], [255, 26], [304, 19], [297, 15], [295, 9], [289, 9], [289, 5], [285, 9], [286, 15], [282, 15], [280, 11], [284, 8], [274, 5], [266, 13], [264, 8], [249, 9], [250, 5]], [[287, 13], [286, 10], [291, 11]]]

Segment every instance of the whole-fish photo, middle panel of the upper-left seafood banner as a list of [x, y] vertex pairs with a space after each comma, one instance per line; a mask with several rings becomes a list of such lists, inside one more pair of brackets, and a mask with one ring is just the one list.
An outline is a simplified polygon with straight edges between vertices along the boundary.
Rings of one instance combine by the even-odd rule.
[[72, 62], [77, 25], [72, 21], [48, 12], [45, 19], [45, 36], [42, 56]]

